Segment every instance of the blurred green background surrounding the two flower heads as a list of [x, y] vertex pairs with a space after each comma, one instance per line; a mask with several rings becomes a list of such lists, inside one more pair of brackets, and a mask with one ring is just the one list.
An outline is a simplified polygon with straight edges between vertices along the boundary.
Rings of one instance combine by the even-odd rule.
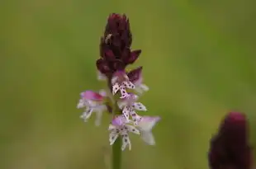
[[[79, 93], [98, 90], [95, 61], [111, 12], [130, 17], [149, 92], [161, 115], [156, 146], [131, 137], [123, 169], [205, 169], [211, 134], [230, 110], [255, 126], [253, 0], [0, 1], [0, 168], [108, 169], [104, 116], [79, 119]], [[256, 135], [252, 133], [252, 142]]]

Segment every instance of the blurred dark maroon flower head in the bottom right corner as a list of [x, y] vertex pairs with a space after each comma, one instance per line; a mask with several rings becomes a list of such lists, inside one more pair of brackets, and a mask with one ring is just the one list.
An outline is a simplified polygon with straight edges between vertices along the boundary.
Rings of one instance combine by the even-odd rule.
[[252, 168], [249, 126], [244, 114], [231, 112], [211, 139], [208, 161], [211, 169]]

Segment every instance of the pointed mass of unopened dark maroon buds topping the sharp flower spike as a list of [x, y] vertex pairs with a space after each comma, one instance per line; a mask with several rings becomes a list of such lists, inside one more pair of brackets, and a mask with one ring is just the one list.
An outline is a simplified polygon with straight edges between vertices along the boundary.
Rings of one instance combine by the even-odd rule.
[[132, 35], [130, 22], [126, 15], [112, 13], [107, 19], [104, 36], [101, 38], [100, 55], [97, 60], [98, 70], [111, 77], [111, 73], [124, 70], [130, 63], [138, 59], [141, 50], [130, 52]]

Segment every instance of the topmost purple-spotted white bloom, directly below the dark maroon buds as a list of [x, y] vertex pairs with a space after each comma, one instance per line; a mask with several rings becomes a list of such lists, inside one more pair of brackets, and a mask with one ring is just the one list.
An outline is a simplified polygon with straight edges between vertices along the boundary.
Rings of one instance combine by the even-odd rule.
[[126, 75], [124, 71], [117, 71], [113, 74], [111, 79], [112, 84], [112, 94], [115, 95], [116, 92], [121, 92], [120, 98], [125, 98], [128, 96], [126, 92], [126, 88], [135, 89], [135, 85], [130, 82], [129, 77]]

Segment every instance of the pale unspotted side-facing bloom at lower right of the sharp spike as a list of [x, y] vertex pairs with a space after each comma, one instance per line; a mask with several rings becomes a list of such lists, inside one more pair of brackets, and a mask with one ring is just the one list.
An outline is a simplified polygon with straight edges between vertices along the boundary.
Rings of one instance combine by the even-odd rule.
[[149, 145], [154, 145], [154, 135], [152, 134], [152, 129], [154, 125], [160, 120], [159, 116], [142, 116], [139, 124], [136, 126], [140, 131], [141, 138]]

